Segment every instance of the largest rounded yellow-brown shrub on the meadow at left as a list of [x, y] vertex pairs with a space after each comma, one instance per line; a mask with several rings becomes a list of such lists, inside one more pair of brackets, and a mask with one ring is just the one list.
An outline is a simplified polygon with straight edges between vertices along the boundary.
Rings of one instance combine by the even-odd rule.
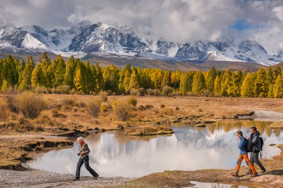
[[42, 110], [47, 109], [47, 103], [42, 96], [31, 92], [24, 91], [15, 98], [19, 112], [22, 112], [25, 118], [37, 118]]

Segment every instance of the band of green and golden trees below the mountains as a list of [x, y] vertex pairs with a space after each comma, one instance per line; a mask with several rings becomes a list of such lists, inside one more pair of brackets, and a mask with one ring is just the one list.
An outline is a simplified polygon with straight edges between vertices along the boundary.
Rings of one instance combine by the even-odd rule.
[[173, 94], [194, 95], [209, 93], [210, 96], [224, 97], [282, 97], [283, 73], [279, 66], [271, 66], [257, 72], [233, 72], [210, 70], [202, 72], [161, 70], [141, 68], [130, 64], [118, 69], [113, 64], [107, 67], [90, 65], [71, 56], [65, 60], [58, 55], [51, 61], [44, 52], [36, 65], [30, 55], [18, 60], [11, 55], [0, 59], [0, 88], [2, 91], [13, 87], [18, 91], [37, 87], [58, 88], [69, 86], [80, 93], [111, 91], [116, 94], [129, 93], [139, 88], [161, 90], [171, 87]]

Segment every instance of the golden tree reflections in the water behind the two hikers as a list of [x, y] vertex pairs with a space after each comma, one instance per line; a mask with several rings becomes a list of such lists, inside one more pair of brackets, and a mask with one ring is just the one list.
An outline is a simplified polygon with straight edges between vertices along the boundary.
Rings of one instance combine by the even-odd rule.
[[243, 128], [249, 129], [251, 127], [256, 127], [261, 134], [266, 133], [266, 135], [270, 137], [272, 133], [274, 133], [275, 136], [278, 137], [280, 135], [280, 130], [268, 128], [271, 123], [272, 122], [265, 121], [223, 121], [209, 125], [208, 130], [210, 133], [214, 134], [214, 131], [224, 130], [224, 132], [227, 133], [235, 129], [241, 130]]

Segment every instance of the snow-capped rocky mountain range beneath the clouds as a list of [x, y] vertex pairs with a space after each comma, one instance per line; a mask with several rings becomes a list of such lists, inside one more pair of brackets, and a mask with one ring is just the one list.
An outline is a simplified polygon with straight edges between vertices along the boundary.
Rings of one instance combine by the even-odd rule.
[[180, 44], [162, 38], [153, 40], [150, 34], [138, 37], [129, 25], [110, 26], [84, 20], [68, 30], [46, 31], [39, 26], [0, 27], [0, 52], [48, 51], [69, 57], [87, 54], [120, 54], [160, 60], [215, 60], [253, 62], [275, 65], [283, 61], [283, 45], [277, 55], [269, 55], [258, 42], [222, 37], [216, 42], [195, 41]]

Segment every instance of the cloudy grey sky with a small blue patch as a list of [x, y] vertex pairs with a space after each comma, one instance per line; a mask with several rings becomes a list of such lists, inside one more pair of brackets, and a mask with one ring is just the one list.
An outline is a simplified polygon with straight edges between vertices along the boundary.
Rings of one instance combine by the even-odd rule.
[[0, 25], [69, 29], [82, 20], [181, 43], [256, 39], [270, 54], [283, 43], [283, 0], [0, 0]]

